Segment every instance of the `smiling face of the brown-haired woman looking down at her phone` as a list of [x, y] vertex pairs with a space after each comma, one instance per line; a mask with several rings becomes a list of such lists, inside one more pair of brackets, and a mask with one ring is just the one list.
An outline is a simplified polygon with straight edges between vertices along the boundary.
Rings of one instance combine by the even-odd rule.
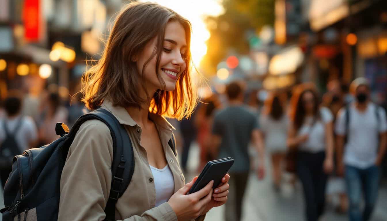
[[[144, 50], [136, 58], [137, 71], [142, 73], [144, 63], [152, 56], [157, 43], [157, 38], [153, 38], [147, 43]], [[154, 93], [158, 89], [173, 91], [176, 87], [176, 80], [185, 70], [185, 54], [187, 52], [187, 43], [185, 39], [184, 27], [176, 21], [168, 22], [165, 29], [163, 48], [161, 52], [160, 65], [157, 74], [165, 82], [159, 82], [155, 71], [156, 56], [147, 64], [144, 70], [145, 86], [148, 93]], [[149, 94], [152, 96], [152, 94]]]

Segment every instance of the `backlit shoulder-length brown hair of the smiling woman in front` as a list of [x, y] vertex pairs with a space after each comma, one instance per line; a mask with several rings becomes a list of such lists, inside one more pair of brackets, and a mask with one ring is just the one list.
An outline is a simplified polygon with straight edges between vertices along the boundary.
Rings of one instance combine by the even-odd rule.
[[[147, 94], [141, 98], [138, 90], [144, 86], [144, 70], [146, 65], [156, 56], [156, 74], [159, 81], [165, 82], [159, 76], [158, 69], [163, 49], [166, 24], [170, 21], [179, 22], [185, 29], [188, 51], [186, 52], [186, 69], [176, 82], [174, 91], [158, 90], [155, 94]], [[142, 73], [137, 72], [132, 58], [138, 55], [145, 45], [157, 38], [156, 48], [144, 64]], [[156, 3], [129, 3], [118, 14], [106, 43], [103, 55], [96, 65], [86, 71], [82, 79], [84, 86], [82, 101], [87, 108], [98, 108], [105, 99], [113, 105], [141, 108], [150, 102], [152, 113], [182, 119], [188, 117], [197, 105], [198, 96], [192, 86], [191, 71], [191, 24], [171, 9]]]

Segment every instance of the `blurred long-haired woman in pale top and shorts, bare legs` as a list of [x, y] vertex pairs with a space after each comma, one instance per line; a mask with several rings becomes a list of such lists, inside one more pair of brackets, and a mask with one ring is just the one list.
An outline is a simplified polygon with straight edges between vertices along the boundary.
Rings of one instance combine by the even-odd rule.
[[284, 108], [285, 99], [280, 94], [271, 94], [266, 100], [264, 111], [260, 116], [265, 148], [271, 153], [272, 178], [276, 190], [279, 190], [281, 185], [282, 165], [288, 135], [289, 120]]

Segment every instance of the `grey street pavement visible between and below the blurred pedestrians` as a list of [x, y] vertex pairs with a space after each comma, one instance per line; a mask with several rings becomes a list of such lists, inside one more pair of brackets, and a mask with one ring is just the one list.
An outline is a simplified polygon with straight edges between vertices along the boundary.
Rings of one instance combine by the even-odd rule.
[[[194, 144], [190, 150], [189, 167], [194, 170], [198, 156], [198, 148]], [[242, 221], [302, 221], [303, 216], [303, 193], [300, 183], [296, 183], [296, 189], [292, 191], [290, 186], [284, 186], [281, 193], [276, 194], [271, 185], [269, 160], [266, 160], [267, 176], [259, 181], [252, 173], [248, 181], [248, 187], [243, 204]], [[186, 178], [188, 180], [190, 177]], [[333, 187], [332, 187], [333, 188]], [[334, 205], [337, 199], [330, 197], [330, 204], [327, 204], [326, 212], [321, 221], [346, 221], [346, 215], [338, 215], [334, 212]], [[373, 213], [371, 221], [385, 221], [387, 217], [387, 188], [381, 188], [378, 195], [377, 208]], [[206, 220], [223, 221], [223, 207], [212, 209]]]

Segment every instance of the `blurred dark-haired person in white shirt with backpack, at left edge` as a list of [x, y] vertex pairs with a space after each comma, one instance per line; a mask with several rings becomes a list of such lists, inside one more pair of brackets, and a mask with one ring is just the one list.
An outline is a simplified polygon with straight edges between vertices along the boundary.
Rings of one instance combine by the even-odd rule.
[[34, 147], [38, 129], [34, 120], [21, 115], [21, 98], [10, 95], [4, 101], [6, 116], [0, 120], [0, 178], [4, 188], [12, 170], [12, 158]]

